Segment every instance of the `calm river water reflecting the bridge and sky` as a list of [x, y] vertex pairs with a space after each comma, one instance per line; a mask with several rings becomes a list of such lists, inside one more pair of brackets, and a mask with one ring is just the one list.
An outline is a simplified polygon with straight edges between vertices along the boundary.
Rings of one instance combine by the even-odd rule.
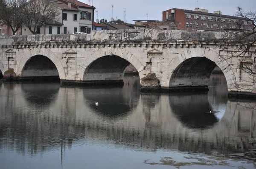
[[244, 107], [254, 103], [229, 101], [224, 76], [208, 93], [146, 94], [138, 77], [124, 81], [0, 84], [0, 169], [256, 167], [256, 112]]

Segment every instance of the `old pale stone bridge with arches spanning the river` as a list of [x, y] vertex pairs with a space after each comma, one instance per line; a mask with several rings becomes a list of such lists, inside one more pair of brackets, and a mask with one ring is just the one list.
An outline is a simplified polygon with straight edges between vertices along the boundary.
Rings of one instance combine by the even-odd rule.
[[[252, 93], [253, 81], [240, 70], [241, 58], [227, 58], [238, 45], [226, 45], [222, 32], [118, 30], [86, 35], [0, 37], [0, 73], [4, 79], [56, 77], [62, 84], [96, 85], [122, 82], [132, 64], [140, 79], [155, 73], [161, 89], [207, 89], [216, 65], [229, 93]], [[256, 46], [252, 47], [255, 50]], [[240, 87], [233, 85], [234, 80]]]

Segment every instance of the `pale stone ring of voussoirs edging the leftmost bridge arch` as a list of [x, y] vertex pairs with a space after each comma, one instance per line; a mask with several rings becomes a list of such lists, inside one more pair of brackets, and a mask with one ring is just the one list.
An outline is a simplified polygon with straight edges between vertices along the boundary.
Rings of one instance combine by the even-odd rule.
[[32, 56], [36, 56], [36, 55], [43, 55], [43, 56], [46, 56], [48, 59], [50, 59], [52, 63], [56, 66], [60, 79], [66, 79], [66, 74], [64, 72], [64, 68], [61, 61], [58, 59], [58, 56], [48, 48], [44, 48], [44, 49], [33, 48], [31, 50], [24, 51], [24, 56], [20, 60], [20, 63], [18, 64], [18, 67], [17, 67], [17, 73], [16, 73], [17, 76], [22, 75], [22, 70], [25, 68], [26, 62]]

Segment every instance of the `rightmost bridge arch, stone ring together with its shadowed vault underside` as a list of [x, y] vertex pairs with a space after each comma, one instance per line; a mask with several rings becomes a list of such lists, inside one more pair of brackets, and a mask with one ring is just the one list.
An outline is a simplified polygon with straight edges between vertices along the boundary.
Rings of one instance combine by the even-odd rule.
[[215, 66], [224, 73], [228, 90], [233, 87], [234, 73], [226, 60], [219, 58], [215, 48], [188, 48], [178, 54], [169, 65], [169, 87], [208, 86]]

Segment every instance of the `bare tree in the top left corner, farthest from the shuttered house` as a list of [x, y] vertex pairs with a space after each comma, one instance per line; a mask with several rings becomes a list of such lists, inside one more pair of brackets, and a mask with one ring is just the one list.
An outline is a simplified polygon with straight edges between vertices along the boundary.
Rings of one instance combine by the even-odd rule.
[[7, 25], [15, 34], [24, 20], [23, 6], [26, 0], [0, 0], [0, 25]]

